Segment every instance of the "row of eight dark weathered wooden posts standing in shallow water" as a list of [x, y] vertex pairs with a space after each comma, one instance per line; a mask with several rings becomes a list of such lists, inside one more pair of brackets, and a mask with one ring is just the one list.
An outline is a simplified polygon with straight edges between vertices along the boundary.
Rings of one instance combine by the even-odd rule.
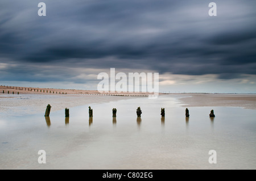
[[[92, 109], [90, 106], [89, 106], [88, 108], [89, 108], [89, 117], [93, 117], [93, 109]], [[44, 114], [44, 116], [45, 116], [45, 117], [48, 117], [50, 111], [51, 111], [51, 105], [48, 104], [47, 107], [46, 107], [46, 113]], [[117, 109], [116, 109], [116, 108], [113, 108], [112, 113], [113, 113], [113, 117], [116, 117], [116, 116], [117, 116]], [[138, 107], [138, 108], [137, 108], [136, 113], [137, 113], [137, 117], [141, 117], [141, 114], [142, 114], [141, 107]], [[164, 108], [161, 108], [161, 113], [160, 113], [160, 115], [161, 115], [162, 117], [165, 117], [166, 113], [165, 113]], [[188, 108], [185, 109], [185, 116], [186, 116], [186, 117], [189, 117]], [[210, 117], [215, 117], [213, 110], [210, 111], [209, 116], [210, 116]], [[68, 109], [68, 108], [65, 108], [65, 117], [69, 117], [69, 109]]]

